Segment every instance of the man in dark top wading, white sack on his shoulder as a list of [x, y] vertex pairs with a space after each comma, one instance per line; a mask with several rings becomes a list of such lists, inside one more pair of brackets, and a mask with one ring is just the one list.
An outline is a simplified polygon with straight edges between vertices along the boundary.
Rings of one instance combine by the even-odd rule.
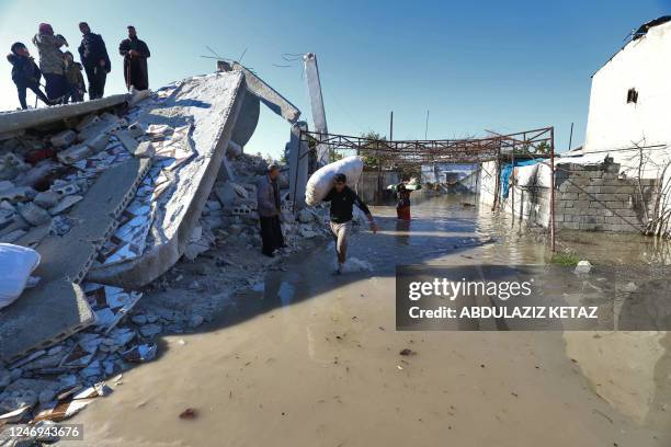
[[377, 232], [377, 225], [373, 220], [371, 210], [356, 195], [352, 188], [348, 186], [348, 177], [345, 174], [339, 173], [333, 176], [333, 187], [323, 198], [323, 202], [331, 203], [331, 231], [336, 239], [336, 252], [338, 254], [338, 270], [336, 274], [342, 273], [342, 264], [344, 264], [348, 253], [348, 240], [352, 232], [352, 211], [354, 205], [361, 209], [371, 224], [371, 231]]

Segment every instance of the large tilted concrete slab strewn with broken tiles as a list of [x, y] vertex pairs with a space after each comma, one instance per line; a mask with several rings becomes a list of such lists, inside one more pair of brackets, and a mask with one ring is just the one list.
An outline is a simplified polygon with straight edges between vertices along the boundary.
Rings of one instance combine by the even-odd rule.
[[137, 122], [158, 147], [155, 165], [89, 280], [137, 288], [180, 259], [226, 161], [244, 92], [240, 71], [196, 77], [173, 85], [140, 113]]

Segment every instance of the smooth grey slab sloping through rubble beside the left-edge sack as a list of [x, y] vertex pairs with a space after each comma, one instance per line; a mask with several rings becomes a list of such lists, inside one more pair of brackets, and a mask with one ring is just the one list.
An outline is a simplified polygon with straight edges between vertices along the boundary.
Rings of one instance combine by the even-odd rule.
[[105, 170], [69, 214], [69, 232], [47, 236], [38, 243], [35, 250], [42, 263], [34, 272], [41, 278], [38, 286], [0, 311], [0, 358], [12, 362], [95, 321], [79, 283], [148, 168], [149, 161], [130, 158]]

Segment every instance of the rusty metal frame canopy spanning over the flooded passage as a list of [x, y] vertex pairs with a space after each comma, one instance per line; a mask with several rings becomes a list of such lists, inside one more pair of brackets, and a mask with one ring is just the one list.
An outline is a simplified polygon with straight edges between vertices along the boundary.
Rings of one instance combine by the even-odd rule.
[[[299, 148], [307, 148], [296, 159], [300, 159], [315, 151], [316, 145], [328, 147], [330, 153], [336, 150], [352, 152], [357, 156], [371, 156], [377, 159], [378, 170], [386, 168], [402, 168], [424, 163], [484, 163], [498, 162], [504, 159], [549, 159], [551, 169], [550, 187], [550, 243], [555, 251], [555, 128], [543, 127], [514, 134], [491, 135], [482, 138], [442, 139], [442, 140], [384, 140], [349, 135], [322, 134], [318, 131], [302, 130], [299, 134]], [[296, 172], [298, 170], [296, 169]], [[295, 179], [297, 181], [297, 179]], [[496, 198], [498, 199], [498, 198]], [[296, 198], [294, 197], [294, 205]], [[496, 207], [496, 204], [494, 204]], [[514, 213], [514, 207], [513, 207]]]

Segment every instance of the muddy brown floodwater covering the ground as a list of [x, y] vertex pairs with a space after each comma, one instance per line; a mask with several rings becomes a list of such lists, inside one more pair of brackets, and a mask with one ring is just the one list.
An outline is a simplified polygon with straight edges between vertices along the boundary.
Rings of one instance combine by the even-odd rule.
[[[349, 272], [331, 274], [332, 243], [288, 259], [71, 422], [91, 446], [671, 446], [666, 332], [395, 331], [397, 264], [548, 262], [542, 236], [465, 203], [418, 196], [410, 224], [376, 207]], [[559, 242], [593, 263], [666, 262], [632, 239]]]

